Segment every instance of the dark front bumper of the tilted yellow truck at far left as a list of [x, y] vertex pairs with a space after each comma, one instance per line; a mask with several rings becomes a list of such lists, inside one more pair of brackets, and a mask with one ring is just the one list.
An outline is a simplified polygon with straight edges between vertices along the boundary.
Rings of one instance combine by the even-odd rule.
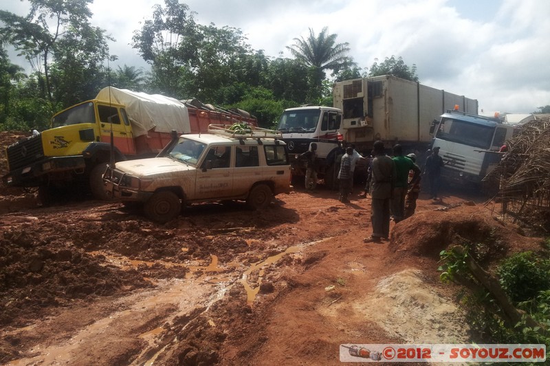
[[52, 157], [5, 174], [2, 181], [10, 187], [39, 187], [48, 181], [61, 180], [67, 172], [83, 174], [86, 161], [82, 156]]

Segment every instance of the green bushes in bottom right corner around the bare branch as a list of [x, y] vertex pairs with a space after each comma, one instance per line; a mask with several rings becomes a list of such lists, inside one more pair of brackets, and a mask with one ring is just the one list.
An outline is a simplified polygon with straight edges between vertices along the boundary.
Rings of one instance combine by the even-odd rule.
[[[466, 262], [475, 256], [470, 248], [463, 253], [442, 251], [439, 268], [443, 282], [465, 286], [461, 302], [467, 321], [478, 343], [535, 343], [550, 345], [550, 258], [547, 253], [516, 253], [503, 260], [496, 270], [498, 283], [520, 314], [520, 321], [510, 323], [503, 304], [496, 301], [472, 274]], [[533, 323], [537, 325], [533, 326]]]

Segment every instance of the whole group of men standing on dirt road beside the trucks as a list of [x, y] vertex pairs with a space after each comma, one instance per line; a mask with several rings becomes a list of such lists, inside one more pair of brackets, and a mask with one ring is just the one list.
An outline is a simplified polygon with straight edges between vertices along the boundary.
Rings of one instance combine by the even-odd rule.
[[[416, 155], [411, 153], [406, 157], [403, 148], [397, 144], [393, 147], [393, 157], [386, 155], [384, 143], [375, 141], [371, 161], [369, 163], [369, 179], [366, 192], [371, 193], [371, 222], [373, 233], [364, 242], [382, 242], [388, 239], [391, 218], [397, 223], [414, 214], [416, 201], [420, 192], [421, 170], [416, 164]], [[306, 190], [312, 191], [317, 184], [317, 144], [312, 143], [311, 149], [300, 155], [307, 159], [305, 176]], [[428, 150], [424, 165], [424, 174], [430, 182], [430, 196], [437, 199], [439, 191], [439, 175], [444, 165], [439, 156], [439, 147]], [[349, 145], [340, 161], [338, 180], [340, 182], [340, 202], [349, 203], [349, 194], [353, 188], [355, 164], [362, 157]]]

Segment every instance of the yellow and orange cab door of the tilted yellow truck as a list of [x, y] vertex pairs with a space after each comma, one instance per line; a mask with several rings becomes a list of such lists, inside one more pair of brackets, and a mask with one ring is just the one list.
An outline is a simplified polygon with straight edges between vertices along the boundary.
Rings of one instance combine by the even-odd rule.
[[[133, 135], [129, 126], [128, 117], [124, 113], [125, 120], [120, 117], [118, 108], [115, 106], [108, 106], [104, 104], [98, 104], [98, 117], [100, 126], [101, 141], [107, 144], [111, 144], [111, 129], [113, 130], [114, 145], [124, 155], [135, 154], [135, 148], [133, 146]], [[126, 123], [128, 123], [126, 125]]]

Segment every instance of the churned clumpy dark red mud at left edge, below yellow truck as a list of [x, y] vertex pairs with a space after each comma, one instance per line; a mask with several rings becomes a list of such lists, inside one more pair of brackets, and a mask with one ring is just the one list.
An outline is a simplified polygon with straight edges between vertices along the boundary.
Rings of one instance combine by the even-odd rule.
[[50, 240], [21, 229], [8, 229], [0, 238], [0, 325], [33, 319], [74, 299], [151, 286], [135, 270], [104, 266], [71, 242], [52, 246]]

